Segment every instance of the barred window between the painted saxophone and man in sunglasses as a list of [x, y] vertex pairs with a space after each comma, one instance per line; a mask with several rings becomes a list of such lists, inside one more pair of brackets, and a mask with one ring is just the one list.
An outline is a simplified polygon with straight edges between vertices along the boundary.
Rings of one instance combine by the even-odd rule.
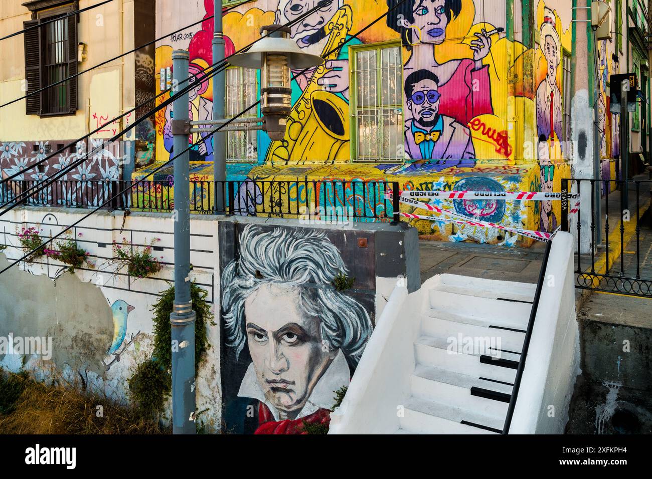
[[400, 43], [352, 47], [351, 158], [404, 160]]

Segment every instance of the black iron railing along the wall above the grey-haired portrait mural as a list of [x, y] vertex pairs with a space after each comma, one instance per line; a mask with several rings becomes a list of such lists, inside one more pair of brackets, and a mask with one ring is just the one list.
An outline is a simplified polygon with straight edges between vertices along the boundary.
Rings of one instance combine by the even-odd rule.
[[[129, 188], [120, 194], [125, 188]], [[174, 210], [171, 177], [151, 181], [8, 181], [2, 204], [73, 208]], [[388, 196], [387, 191], [396, 194]], [[324, 221], [398, 222], [398, 182], [191, 181], [190, 212]]]

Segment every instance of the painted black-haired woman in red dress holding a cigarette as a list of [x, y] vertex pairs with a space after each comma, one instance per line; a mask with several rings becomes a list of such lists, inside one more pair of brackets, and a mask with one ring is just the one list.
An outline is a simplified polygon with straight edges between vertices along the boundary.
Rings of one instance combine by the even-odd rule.
[[489, 66], [482, 65], [492, 40], [484, 29], [470, 42], [473, 59], [445, 63], [435, 59], [436, 46], [446, 40], [446, 27], [462, 12], [462, 0], [387, 0], [387, 7], [393, 8], [387, 14], [387, 26], [400, 33], [410, 52], [405, 75], [421, 68], [437, 75], [441, 113], [464, 125], [478, 115], [494, 113]]

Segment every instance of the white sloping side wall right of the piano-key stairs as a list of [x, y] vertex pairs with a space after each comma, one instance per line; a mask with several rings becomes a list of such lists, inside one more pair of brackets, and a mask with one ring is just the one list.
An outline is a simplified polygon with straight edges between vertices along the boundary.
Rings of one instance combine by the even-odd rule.
[[574, 285], [573, 238], [559, 232], [550, 250], [510, 434], [564, 431], [580, 374]]

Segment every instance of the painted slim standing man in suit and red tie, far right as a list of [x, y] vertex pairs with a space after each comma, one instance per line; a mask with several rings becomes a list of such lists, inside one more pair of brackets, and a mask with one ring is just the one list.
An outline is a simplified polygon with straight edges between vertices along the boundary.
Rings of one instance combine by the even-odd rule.
[[541, 51], [546, 59], [546, 78], [537, 88], [537, 134], [552, 139], [554, 132], [557, 141], [561, 141], [563, 139], [562, 98], [557, 86], [561, 42], [555, 27], [555, 14], [550, 8], [544, 9], [540, 33]]

